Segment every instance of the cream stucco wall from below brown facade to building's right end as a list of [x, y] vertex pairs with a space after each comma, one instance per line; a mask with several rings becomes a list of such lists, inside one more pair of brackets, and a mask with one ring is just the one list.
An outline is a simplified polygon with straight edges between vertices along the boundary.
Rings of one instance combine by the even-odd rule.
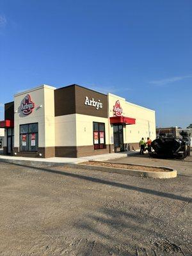
[[[108, 115], [113, 116], [113, 106], [116, 100], [124, 109], [124, 116], [136, 118], [135, 125], [124, 127], [124, 143], [138, 143], [143, 136], [156, 138], [155, 111], [126, 102], [124, 98], [112, 95], [108, 97]], [[93, 122], [102, 122], [106, 128], [106, 144], [113, 144], [113, 125], [109, 118], [80, 114], [55, 117], [55, 145], [62, 147], [93, 145]]]

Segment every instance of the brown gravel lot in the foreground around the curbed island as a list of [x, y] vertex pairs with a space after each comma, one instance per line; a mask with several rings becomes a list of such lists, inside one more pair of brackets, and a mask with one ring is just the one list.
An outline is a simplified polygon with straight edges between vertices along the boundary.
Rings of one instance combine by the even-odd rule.
[[0, 255], [192, 255], [191, 160], [115, 160], [177, 166], [168, 180], [0, 163]]

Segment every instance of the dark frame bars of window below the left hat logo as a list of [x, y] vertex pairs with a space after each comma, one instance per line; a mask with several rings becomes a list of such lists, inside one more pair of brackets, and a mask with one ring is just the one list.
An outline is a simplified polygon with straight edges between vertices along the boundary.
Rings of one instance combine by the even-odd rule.
[[[29, 125], [31, 125], [31, 124], [37, 125], [36, 132], [31, 132], [31, 131], [29, 132]], [[20, 132], [20, 127], [22, 125], [28, 125], [28, 132]], [[29, 141], [30, 141], [29, 138], [31, 138], [31, 134], [33, 134], [33, 133], [35, 134], [36, 146], [31, 146], [29, 143]], [[26, 146], [21, 145], [22, 141], [20, 140], [20, 136], [22, 136], [22, 134], [26, 135]], [[22, 150], [22, 147], [27, 147], [27, 149]], [[36, 147], [36, 150], [29, 150], [29, 147]], [[19, 125], [19, 151], [20, 152], [37, 152], [38, 151], [38, 122]]]

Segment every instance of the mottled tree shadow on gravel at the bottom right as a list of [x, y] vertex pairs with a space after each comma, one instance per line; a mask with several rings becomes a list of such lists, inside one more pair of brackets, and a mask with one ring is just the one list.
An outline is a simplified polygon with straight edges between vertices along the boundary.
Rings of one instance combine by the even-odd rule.
[[127, 210], [102, 207], [86, 214], [82, 220], [75, 221], [74, 226], [99, 236], [102, 241], [107, 241], [106, 244], [110, 243], [108, 252], [111, 255], [186, 255], [180, 246], [166, 238], [168, 236], [173, 240], [175, 236], [172, 228], [166, 233], [162, 230], [167, 220], [151, 216], [149, 212], [134, 207]]

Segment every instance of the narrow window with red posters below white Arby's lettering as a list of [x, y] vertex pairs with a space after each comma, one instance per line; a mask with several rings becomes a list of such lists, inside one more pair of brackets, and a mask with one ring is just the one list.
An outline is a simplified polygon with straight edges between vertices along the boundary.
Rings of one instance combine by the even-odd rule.
[[106, 148], [105, 124], [93, 122], [93, 145], [94, 149]]

